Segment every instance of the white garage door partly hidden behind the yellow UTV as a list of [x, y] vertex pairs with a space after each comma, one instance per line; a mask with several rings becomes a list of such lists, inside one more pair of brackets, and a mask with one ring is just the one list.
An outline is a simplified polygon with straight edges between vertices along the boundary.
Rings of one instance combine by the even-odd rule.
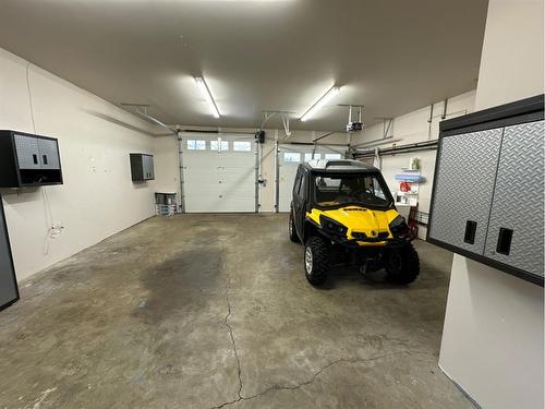
[[343, 159], [346, 147], [284, 144], [279, 145], [278, 151], [278, 210], [290, 212], [293, 181], [299, 164], [311, 159]]

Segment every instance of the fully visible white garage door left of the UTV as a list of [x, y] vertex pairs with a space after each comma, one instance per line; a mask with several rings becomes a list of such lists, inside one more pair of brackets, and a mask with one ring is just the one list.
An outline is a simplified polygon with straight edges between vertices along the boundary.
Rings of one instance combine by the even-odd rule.
[[249, 135], [183, 134], [186, 213], [254, 213], [256, 152]]

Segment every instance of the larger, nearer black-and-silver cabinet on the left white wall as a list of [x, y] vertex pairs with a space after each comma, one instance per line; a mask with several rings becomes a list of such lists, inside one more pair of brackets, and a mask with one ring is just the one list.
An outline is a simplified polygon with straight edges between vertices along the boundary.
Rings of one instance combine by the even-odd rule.
[[0, 131], [0, 188], [62, 184], [59, 144], [53, 137]]

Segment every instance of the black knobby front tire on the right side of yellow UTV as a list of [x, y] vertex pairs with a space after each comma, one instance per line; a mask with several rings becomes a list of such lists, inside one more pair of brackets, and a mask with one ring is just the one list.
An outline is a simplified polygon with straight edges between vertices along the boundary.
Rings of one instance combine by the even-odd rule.
[[416, 279], [420, 273], [419, 253], [411, 243], [386, 249], [384, 267], [388, 281], [399, 285], [410, 284]]

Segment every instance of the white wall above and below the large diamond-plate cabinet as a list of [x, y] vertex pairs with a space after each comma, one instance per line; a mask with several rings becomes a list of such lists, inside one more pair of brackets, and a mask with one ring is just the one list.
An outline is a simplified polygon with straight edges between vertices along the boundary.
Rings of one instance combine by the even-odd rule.
[[[543, 12], [491, 0], [475, 109], [543, 93]], [[543, 288], [455, 255], [440, 368], [483, 408], [543, 409]]]

